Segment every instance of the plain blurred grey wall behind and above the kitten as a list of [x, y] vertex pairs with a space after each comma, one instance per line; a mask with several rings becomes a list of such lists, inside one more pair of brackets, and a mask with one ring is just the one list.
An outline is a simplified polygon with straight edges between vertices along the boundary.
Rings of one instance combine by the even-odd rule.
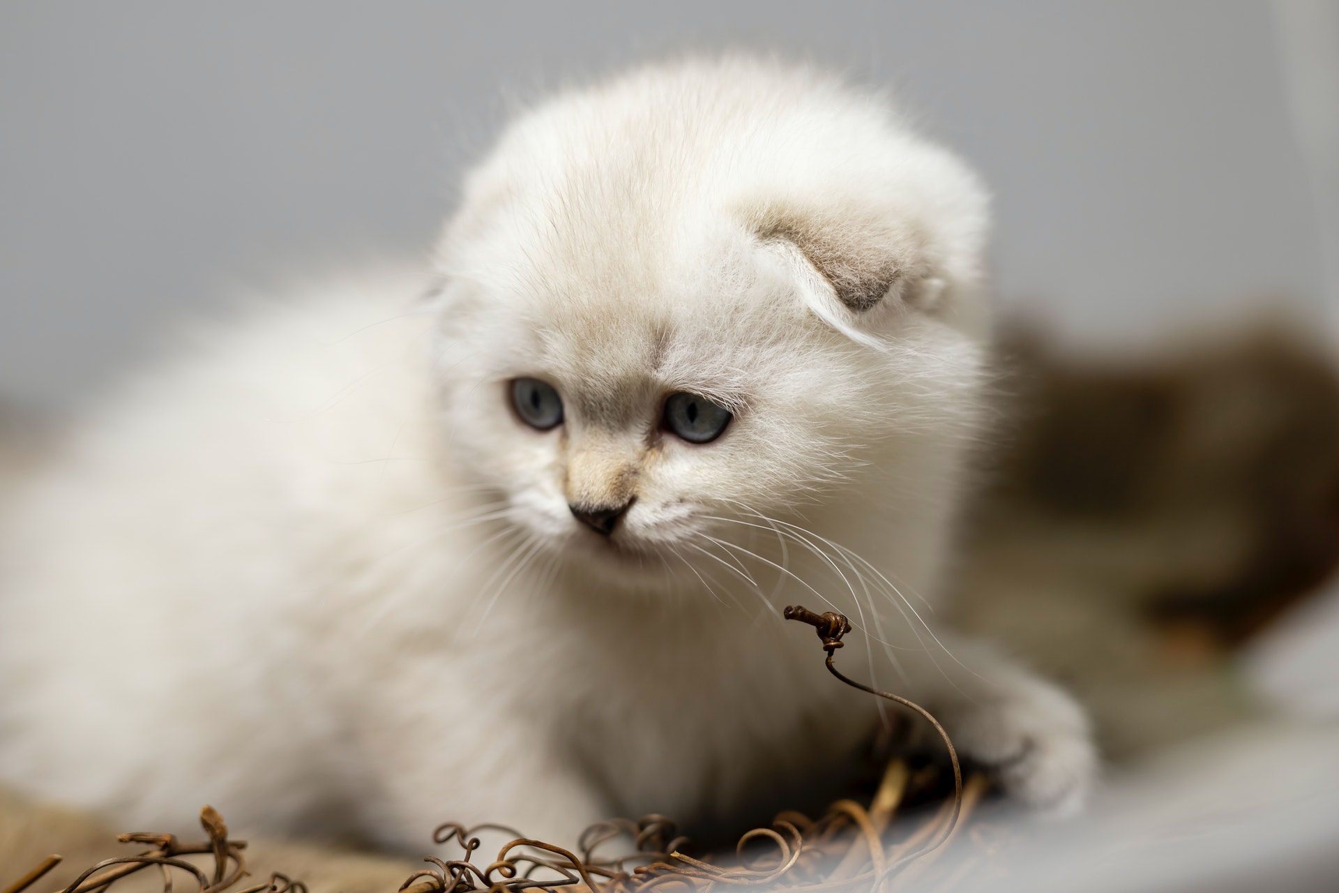
[[1073, 345], [1312, 319], [1287, 46], [1225, 0], [8, 0], [0, 395], [67, 404], [234, 295], [422, 257], [517, 103], [684, 48], [893, 87], [995, 190], [1002, 301]]

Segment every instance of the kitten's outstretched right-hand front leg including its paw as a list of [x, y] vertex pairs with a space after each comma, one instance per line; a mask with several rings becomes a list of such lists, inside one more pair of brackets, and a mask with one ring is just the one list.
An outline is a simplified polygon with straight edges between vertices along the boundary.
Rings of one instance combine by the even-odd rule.
[[908, 671], [959, 752], [994, 767], [1006, 790], [1031, 806], [1056, 814], [1082, 807], [1098, 752], [1078, 702], [980, 643], [944, 643]]

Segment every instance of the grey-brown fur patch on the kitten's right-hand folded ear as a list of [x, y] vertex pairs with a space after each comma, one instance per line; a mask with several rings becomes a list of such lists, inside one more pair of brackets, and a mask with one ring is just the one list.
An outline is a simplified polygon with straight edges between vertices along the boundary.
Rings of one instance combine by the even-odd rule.
[[904, 274], [896, 254], [872, 245], [876, 240], [861, 228], [830, 221], [806, 225], [798, 220], [779, 220], [759, 228], [758, 236], [785, 240], [798, 248], [832, 282], [837, 299], [857, 313], [877, 307]]

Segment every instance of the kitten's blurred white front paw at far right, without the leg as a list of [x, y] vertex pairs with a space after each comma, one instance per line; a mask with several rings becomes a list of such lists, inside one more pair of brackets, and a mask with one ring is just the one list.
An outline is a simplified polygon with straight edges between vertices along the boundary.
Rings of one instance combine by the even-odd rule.
[[1011, 797], [1047, 814], [1079, 811], [1097, 781], [1087, 716], [1048, 683], [1028, 679], [998, 700], [963, 704], [945, 727], [963, 755], [999, 773]]

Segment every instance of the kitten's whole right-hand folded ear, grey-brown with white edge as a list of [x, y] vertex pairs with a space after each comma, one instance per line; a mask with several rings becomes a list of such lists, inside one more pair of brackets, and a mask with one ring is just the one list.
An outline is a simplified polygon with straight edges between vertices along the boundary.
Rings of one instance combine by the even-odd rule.
[[798, 280], [810, 309], [853, 340], [881, 344], [870, 329], [898, 312], [956, 315], [944, 307], [949, 277], [924, 233], [858, 212], [777, 209], [757, 214], [753, 232]]

